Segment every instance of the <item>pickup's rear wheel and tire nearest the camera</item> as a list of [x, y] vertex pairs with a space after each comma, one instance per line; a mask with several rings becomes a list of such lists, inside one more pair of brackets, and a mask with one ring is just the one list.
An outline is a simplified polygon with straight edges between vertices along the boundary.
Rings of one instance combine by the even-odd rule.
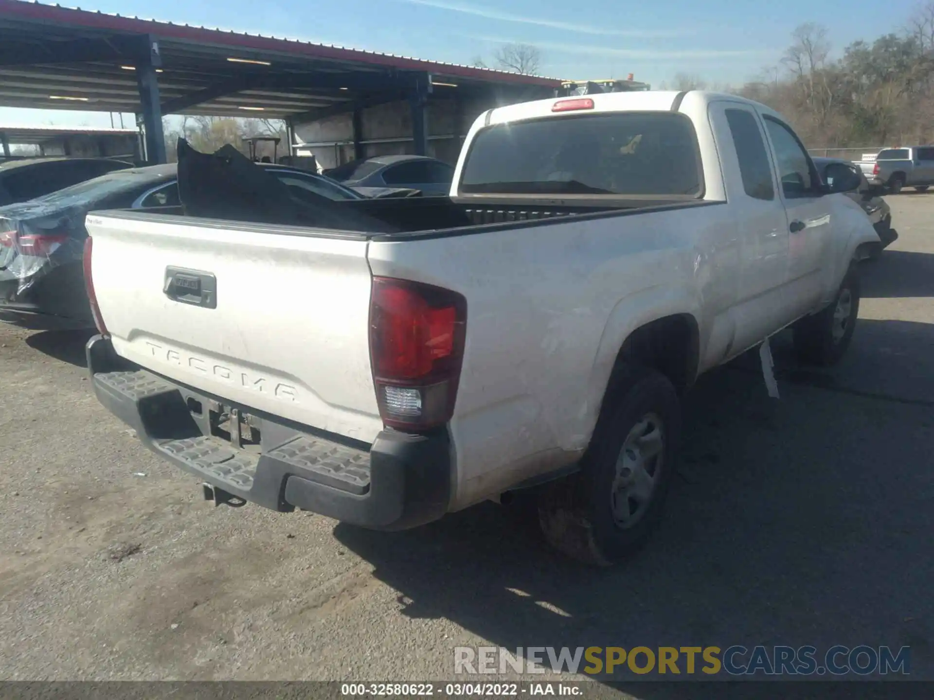
[[617, 377], [581, 471], [548, 484], [539, 497], [545, 539], [598, 566], [624, 559], [655, 530], [681, 432], [678, 395], [667, 377], [641, 367]]

